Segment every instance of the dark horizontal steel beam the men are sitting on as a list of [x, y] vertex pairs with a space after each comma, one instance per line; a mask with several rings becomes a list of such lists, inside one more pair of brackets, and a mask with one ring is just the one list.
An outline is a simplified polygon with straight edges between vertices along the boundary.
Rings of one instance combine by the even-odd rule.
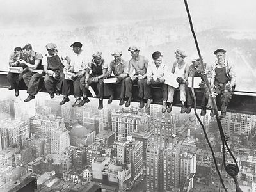
[[[8, 79], [6, 78], [6, 74], [7, 72], [0, 71], [0, 87], [1, 88], [8, 88], [8, 86], [10, 85], [8, 82]], [[24, 84], [24, 82], [20, 84], [20, 90], [26, 90], [26, 85]], [[115, 100], [120, 100], [120, 85], [115, 84], [113, 87], [113, 90], [115, 92]], [[46, 92], [44, 86], [41, 92]], [[133, 101], [139, 102], [140, 100], [138, 97], [137, 86], [132, 87], [132, 93], [133, 93]], [[152, 93], [152, 98], [154, 100], [153, 104], [162, 104], [161, 88], [153, 87], [151, 93]], [[197, 108], [200, 108], [202, 93], [200, 92], [199, 89], [195, 89], [195, 94], [196, 94], [196, 100], [197, 100]], [[74, 95], [74, 88], [71, 88], [71, 95]], [[173, 101], [173, 106], [178, 106], [178, 107], [181, 106], [179, 95], [180, 95], [179, 90], [175, 90], [175, 98]], [[108, 98], [106, 97], [105, 99], [108, 99]], [[218, 102], [218, 100], [217, 100], [217, 104], [220, 110], [220, 102]], [[246, 114], [256, 115], [256, 93], [235, 91], [232, 94], [232, 100], [230, 101], [230, 104], [228, 104], [227, 111], [233, 112], [233, 113], [246, 113]]]

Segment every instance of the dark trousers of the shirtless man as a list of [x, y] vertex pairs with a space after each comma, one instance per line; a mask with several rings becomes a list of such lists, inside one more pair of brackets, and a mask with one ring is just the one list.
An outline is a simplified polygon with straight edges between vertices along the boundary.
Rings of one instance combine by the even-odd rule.
[[151, 99], [150, 87], [147, 84], [147, 79], [135, 79], [132, 81], [131, 77], [125, 79], [125, 97], [132, 97], [132, 84], [138, 85], [138, 96], [142, 99]]

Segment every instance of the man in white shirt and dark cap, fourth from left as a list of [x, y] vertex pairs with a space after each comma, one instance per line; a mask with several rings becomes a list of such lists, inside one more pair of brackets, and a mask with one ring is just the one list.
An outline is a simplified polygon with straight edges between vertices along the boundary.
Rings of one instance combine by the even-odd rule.
[[71, 58], [70, 68], [64, 68], [64, 73], [66, 71], [71, 72], [74, 76], [72, 76], [72, 80], [63, 80], [62, 95], [64, 97], [60, 102], [60, 105], [63, 105], [69, 101], [68, 95], [70, 95], [71, 84], [74, 86], [74, 97], [76, 98], [76, 102], [72, 104], [72, 107], [76, 107], [81, 102], [82, 86], [80, 84], [80, 79], [84, 76], [86, 66], [89, 63], [88, 57], [86, 54], [84, 54], [82, 46], [83, 44], [81, 44], [81, 42], [74, 42], [72, 45], [70, 45], [70, 47], [73, 48], [74, 56]]

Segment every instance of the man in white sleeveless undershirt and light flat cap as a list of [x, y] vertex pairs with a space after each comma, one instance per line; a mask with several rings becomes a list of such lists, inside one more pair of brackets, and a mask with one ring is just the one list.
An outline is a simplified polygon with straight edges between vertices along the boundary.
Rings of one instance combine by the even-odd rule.
[[[188, 84], [188, 72], [189, 65], [184, 61], [187, 57], [187, 54], [184, 50], [177, 49], [175, 52], [176, 61], [172, 66], [172, 73], [177, 76], [177, 82], [179, 83], [180, 90], [180, 101], [182, 102], [180, 113], [186, 112], [185, 102], [186, 102], [186, 85]], [[168, 75], [167, 75], [168, 76]], [[173, 86], [168, 86], [168, 99], [167, 99], [167, 112], [170, 113], [172, 111], [172, 102], [174, 98], [175, 88]]]

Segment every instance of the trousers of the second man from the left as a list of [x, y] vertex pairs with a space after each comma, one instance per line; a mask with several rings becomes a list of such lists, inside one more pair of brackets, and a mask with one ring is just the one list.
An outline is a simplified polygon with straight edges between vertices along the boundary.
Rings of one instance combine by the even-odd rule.
[[44, 74], [38, 74], [30, 71], [26, 72], [26, 74], [22, 76], [26, 86], [28, 87], [27, 93], [29, 95], [36, 95], [36, 93], [38, 93], [40, 79], [42, 76], [44, 76]]

